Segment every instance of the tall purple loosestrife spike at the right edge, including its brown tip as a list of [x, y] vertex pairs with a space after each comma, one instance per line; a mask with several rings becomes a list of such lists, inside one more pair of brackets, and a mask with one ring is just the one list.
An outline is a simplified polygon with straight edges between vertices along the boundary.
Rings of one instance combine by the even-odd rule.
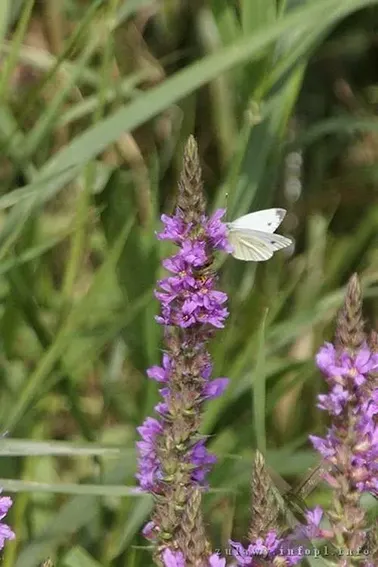
[[[329, 387], [328, 393], [319, 396], [318, 407], [329, 414], [331, 425], [324, 438], [312, 435], [310, 439], [331, 465], [324, 475], [334, 492], [333, 506], [327, 511], [328, 539], [346, 549], [369, 545], [373, 553], [366, 540], [368, 525], [360, 497], [363, 492], [378, 496], [378, 349], [367, 341], [361, 306], [354, 275], [339, 315], [335, 344], [326, 343], [316, 357]], [[374, 557], [378, 565], [378, 555]], [[368, 564], [366, 556], [358, 561], [353, 565]]]

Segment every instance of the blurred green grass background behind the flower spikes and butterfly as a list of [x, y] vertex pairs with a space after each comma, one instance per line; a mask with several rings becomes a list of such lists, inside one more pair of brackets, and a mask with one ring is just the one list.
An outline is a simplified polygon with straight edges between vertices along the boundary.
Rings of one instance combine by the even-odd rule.
[[314, 354], [354, 271], [377, 323], [376, 5], [1, 0], [4, 567], [151, 565], [135, 428], [157, 401], [145, 369], [171, 249], [155, 231], [189, 134], [209, 211], [284, 207], [295, 241], [263, 264], [219, 258], [231, 314], [211, 351], [231, 383], [203, 423], [214, 547], [247, 532], [256, 447], [290, 483], [316, 461]]

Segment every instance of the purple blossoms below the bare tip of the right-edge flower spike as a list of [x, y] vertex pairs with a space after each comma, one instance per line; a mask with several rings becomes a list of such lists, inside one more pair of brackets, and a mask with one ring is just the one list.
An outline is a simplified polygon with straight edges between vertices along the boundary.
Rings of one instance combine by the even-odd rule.
[[[333, 417], [334, 423], [325, 438], [310, 436], [314, 447], [335, 466], [344, 445], [345, 427], [349, 419], [348, 435], [353, 436], [347, 466], [349, 480], [360, 492], [378, 496], [378, 389], [367, 388], [369, 375], [378, 369], [378, 357], [363, 344], [354, 354], [337, 352], [333, 345], [322, 347], [317, 357], [318, 366], [326, 375], [331, 389], [319, 396], [318, 407]], [[342, 382], [342, 383], [341, 383]], [[346, 416], [350, 416], [346, 418]]]

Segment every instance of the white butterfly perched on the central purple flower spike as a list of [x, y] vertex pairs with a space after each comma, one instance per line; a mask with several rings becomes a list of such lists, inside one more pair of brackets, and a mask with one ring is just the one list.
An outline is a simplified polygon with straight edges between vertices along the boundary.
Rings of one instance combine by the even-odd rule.
[[227, 223], [228, 241], [237, 260], [262, 262], [292, 244], [290, 238], [273, 234], [286, 215], [285, 209], [265, 209]]

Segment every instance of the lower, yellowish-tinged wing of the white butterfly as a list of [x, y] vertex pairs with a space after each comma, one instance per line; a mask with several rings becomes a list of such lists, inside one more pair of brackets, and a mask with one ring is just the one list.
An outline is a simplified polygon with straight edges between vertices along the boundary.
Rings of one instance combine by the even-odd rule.
[[232, 229], [228, 240], [233, 247], [232, 255], [245, 262], [264, 262], [277, 250], [291, 245], [291, 240], [281, 234], [271, 234], [251, 229]]

